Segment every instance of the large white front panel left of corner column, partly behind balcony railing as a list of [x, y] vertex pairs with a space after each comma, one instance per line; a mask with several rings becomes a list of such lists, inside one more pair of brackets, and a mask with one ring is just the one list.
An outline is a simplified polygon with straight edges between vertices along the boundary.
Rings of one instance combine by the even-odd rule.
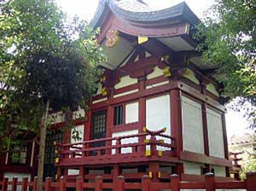
[[[171, 135], [170, 107], [170, 95], [157, 96], [146, 101], [146, 127], [148, 130], [160, 130], [166, 127], [165, 134]], [[166, 143], [171, 143], [170, 139], [163, 137], [156, 138], [163, 139]], [[149, 148], [147, 147], [147, 149]], [[170, 148], [163, 148], [159, 146], [157, 146], [157, 149], [170, 150]]]

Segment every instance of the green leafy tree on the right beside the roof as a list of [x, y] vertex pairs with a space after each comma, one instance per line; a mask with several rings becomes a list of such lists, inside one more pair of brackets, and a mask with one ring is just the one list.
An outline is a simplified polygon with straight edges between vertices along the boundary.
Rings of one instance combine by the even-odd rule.
[[[195, 38], [201, 43], [207, 63], [218, 67], [224, 94], [245, 109], [252, 127], [256, 124], [256, 2], [255, 0], [215, 0]], [[247, 102], [252, 108], [247, 107]]]

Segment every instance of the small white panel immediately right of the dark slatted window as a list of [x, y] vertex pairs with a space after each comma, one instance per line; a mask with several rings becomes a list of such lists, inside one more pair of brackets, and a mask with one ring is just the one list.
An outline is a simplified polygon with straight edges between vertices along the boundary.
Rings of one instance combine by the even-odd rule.
[[138, 121], [138, 102], [125, 105], [125, 124]]

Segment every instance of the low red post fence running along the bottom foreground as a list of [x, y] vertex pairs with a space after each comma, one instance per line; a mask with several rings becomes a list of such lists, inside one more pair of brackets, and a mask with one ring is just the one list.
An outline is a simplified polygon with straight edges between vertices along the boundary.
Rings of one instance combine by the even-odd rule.
[[[0, 182], [1, 191], [7, 191], [9, 185], [12, 191], [17, 191], [18, 187], [21, 187], [21, 191], [26, 191], [27, 188], [36, 191], [37, 180], [37, 178], [34, 178], [34, 182], [28, 182], [27, 178], [23, 178], [22, 182], [18, 182], [18, 178], [15, 177], [12, 182], [9, 182], [8, 178], [4, 178]], [[180, 178], [177, 175], [172, 175], [170, 182], [151, 182], [148, 176], [143, 176], [142, 181], [137, 183], [125, 182], [125, 177], [122, 176], [114, 178], [113, 182], [103, 182], [100, 176], [96, 177], [95, 182], [84, 182], [82, 177], [76, 177], [75, 182], [67, 182], [64, 177], [61, 177], [59, 182], [52, 182], [51, 178], [48, 177], [44, 182], [44, 191], [65, 191], [66, 188], [75, 188], [76, 191], [82, 191], [84, 188], [94, 188], [95, 191], [102, 191], [103, 188], [113, 189], [113, 191], [125, 191], [125, 189], [142, 191], [158, 191], [162, 189], [171, 189], [172, 191], [179, 191], [180, 189], [205, 189], [206, 191], [246, 189], [247, 191], [255, 191], [256, 173], [248, 173], [245, 181], [230, 182], [218, 182], [212, 173], [205, 175], [204, 182], [180, 182]]]

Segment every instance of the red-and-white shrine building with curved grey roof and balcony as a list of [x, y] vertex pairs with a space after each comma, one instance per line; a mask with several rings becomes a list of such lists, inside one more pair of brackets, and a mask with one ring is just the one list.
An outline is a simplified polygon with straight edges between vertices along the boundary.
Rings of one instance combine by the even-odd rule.
[[[65, 119], [52, 114], [45, 176], [124, 175], [135, 181], [149, 174], [158, 182], [177, 173], [192, 181], [214, 171], [230, 177], [221, 86], [192, 38], [199, 22], [186, 3], [152, 10], [136, 0], [100, 1], [91, 25], [101, 27], [97, 40], [108, 56], [105, 72], [90, 110], [74, 113], [76, 130], [58, 131]], [[56, 145], [58, 152], [54, 141], [65, 143]], [[33, 168], [35, 148], [27, 153]], [[10, 156], [3, 158], [4, 176], [20, 173], [6, 167], [13, 166]]]

